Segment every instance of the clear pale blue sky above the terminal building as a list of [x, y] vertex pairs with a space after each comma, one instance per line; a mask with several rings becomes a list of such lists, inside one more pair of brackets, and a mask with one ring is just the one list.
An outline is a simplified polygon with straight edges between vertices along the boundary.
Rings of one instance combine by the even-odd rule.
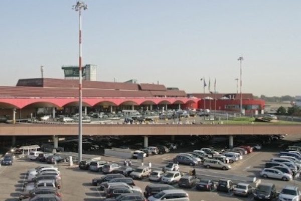
[[[63, 78], [78, 64], [76, 1], [2, 0], [0, 85], [19, 78]], [[85, 1], [83, 63], [97, 79], [160, 83], [203, 92], [214, 78], [219, 92], [235, 92], [242, 64], [243, 92], [300, 95], [301, 1]], [[208, 92], [208, 87], [206, 87]]]

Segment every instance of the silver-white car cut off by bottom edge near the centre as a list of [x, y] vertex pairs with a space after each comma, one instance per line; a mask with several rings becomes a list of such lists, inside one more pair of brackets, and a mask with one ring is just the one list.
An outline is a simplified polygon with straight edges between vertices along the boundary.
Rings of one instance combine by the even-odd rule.
[[147, 198], [149, 201], [160, 201], [160, 200], [170, 200], [170, 201], [189, 201], [187, 192], [182, 189], [171, 189], [163, 190], [155, 195]]

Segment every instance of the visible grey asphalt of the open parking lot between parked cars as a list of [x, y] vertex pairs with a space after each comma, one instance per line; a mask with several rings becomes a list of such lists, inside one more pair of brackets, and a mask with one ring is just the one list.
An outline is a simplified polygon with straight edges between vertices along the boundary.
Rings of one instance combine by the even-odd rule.
[[[287, 136], [286, 140], [298, 140], [299, 136]], [[189, 149], [189, 148], [187, 148]], [[263, 168], [266, 161], [270, 158], [275, 157], [277, 153], [283, 150], [281, 144], [267, 145], [263, 147], [261, 151], [253, 152], [245, 155], [244, 159], [231, 164], [230, 170], [219, 170], [219, 169], [207, 169], [202, 165], [196, 166], [196, 173], [198, 178], [210, 178], [214, 181], [218, 181], [220, 178], [229, 178], [234, 183], [248, 182], [255, 185], [251, 181], [254, 177], [261, 179], [263, 183], [274, 183], [278, 191], [284, 185], [291, 184], [299, 186], [300, 180], [295, 178], [291, 181], [281, 181], [276, 179], [263, 179], [260, 178], [259, 171]], [[190, 150], [192, 151], [192, 150]], [[178, 151], [177, 151], [178, 152]], [[144, 164], [152, 162], [152, 167], [162, 168], [168, 161], [171, 161], [178, 153], [167, 153], [163, 155], [149, 156], [144, 159]], [[102, 156], [102, 160], [116, 162], [119, 164], [123, 163], [121, 158], [112, 158]], [[132, 166], [140, 165], [140, 161], [133, 159]], [[37, 161], [29, 161], [28, 159], [15, 159], [12, 166], [1, 166], [0, 167], [0, 200], [18, 200], [19, 194], [23, 191], [23, 183], [26, 180], [25, 172], [41, 164]], [[96, 186], [92, 186], [92, 178], [99, 177], [102, 173], [91, 172], [88, 170], [80, 170], [77, 165], [69, 167], [67, 163], [60, 163], [57, 165], [62, 175], [62, 194], [63, 200], [104, 200], [103, 192], [98, 190]], [[180, 165], [180, 171], [188, 173], [192, 169], [191, 166]], [[142, 191], [147, 184], [149, 184], [148, 178], [142, 180], [135, 180], [135, 184], [139, 186]], [[174, 184], [178, 187], [178, 184]], [[234, 196], [230, 191], [229, 193], [197, 191], [195, 188], [184, 189], [188, 192], [190, 200], [251, 200], [250, 197], [237, 197]]]

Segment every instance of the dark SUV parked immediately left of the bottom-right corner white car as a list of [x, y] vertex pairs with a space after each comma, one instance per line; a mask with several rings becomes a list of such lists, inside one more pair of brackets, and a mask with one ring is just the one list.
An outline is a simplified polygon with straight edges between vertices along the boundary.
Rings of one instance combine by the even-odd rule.
[[254, 199], [269, 199], [276, 197], [276, 186], [272, 183], [260, 183], [253, 191]]

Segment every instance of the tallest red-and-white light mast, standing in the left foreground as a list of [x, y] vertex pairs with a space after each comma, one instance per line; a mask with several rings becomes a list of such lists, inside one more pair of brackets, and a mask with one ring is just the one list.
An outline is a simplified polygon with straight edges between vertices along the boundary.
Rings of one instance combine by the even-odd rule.
[[81, 9], [87, 10], [88, 6], [85, 5], [82, 1], [77, 1], [76, 5], [73, 6], [75, 11], [79, 12], [79, 106], [78, 106], [78, 113], [79, 113], [79, 122], [78, 122], [78, 162], [82, 160], [82, 141], [83, 141], [83, 129], [82, 129], [82, 50], [81, 50]]

